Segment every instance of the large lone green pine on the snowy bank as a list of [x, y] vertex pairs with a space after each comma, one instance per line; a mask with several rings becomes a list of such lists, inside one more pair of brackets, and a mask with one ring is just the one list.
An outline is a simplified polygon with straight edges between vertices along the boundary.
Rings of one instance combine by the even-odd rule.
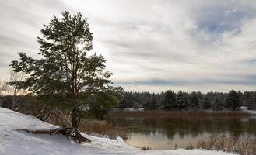
[[[10, 84], [32, 91], [48, 105], [70, 108], [74, 129], [78, 128], [85, 113], [95, 109], [88, 108], [92, 101], [101, 108], [103, 106], [99, 104], [117, 102], [122, 88], [111, 86], [109, 78], [112, 73], [104, 71], [105, 58], [90, 53], [93, 33], [82, 13], [62, 12], [62, 17], [54, 16], [41, 33], [42, 37], [37, 41], [40, 44], [38, 54], [42, 58], [34, 59], [26, 53], [18, 53], [20, 61], [12, 61], [13, 71], [23, 72], [28, 77]], [[102, 98], [106, 100], [102, 102]]]

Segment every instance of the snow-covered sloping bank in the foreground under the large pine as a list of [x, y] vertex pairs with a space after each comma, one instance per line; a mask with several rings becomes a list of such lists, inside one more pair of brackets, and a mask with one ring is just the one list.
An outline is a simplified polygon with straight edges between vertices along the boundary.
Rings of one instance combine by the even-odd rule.
[[[168, 155], [226, 155], [211, 150], [141, 150], [128, 146], [124, 140], [83, 134], [92, 143], [76, 144], [61, 135], [44, 135], [17, 131], [17, 129], [54, 129], [37, 118], [0, 108], [0, 154], [1, 155], [84, 155], [84, 154], [168, 154]], [[156, 142], [157, 143], [157, 142]]]

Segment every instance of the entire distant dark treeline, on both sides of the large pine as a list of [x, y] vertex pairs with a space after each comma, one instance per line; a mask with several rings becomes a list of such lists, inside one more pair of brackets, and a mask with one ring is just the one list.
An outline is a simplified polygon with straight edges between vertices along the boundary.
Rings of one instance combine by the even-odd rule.
[[[44, 105], [35, 96], [31, 95], [0, 95], [0, 107], [16, 109], [22, 112], [40, 111]], [[166, 91], [161, 93], [125, 92], [123, 99], [116, 108], [145, 108], [146, 110], [239, 110], [246, 106], [249, 110], [256, 110], [256, 91], [223, 92], [185, 92]], [[33, 108], [33, 109], [32, 109]], [[35, 109], [34, 109], [35, 108]]]

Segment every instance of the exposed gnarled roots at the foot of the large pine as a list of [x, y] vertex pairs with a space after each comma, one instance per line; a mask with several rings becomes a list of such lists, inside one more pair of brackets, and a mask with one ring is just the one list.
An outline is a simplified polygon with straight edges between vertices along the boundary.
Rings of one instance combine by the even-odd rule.
[[58, 129], [41, 129], [41, 130], [29, 130], [29, 129], [18, 129], [21, 131], [26, 131], [26, 133], [33, 134], [62, 134], [67, 137], [68, 140], [73, 140], [75, 143], [89, 143], [91, 140], [81, 135], [78, 129], [74, 129], [72, 127], [60, 127]]

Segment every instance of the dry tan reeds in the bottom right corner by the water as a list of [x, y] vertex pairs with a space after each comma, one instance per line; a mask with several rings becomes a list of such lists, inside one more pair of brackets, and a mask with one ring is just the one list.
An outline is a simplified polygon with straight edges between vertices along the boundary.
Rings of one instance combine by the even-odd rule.
[[256, 155], [256, 139], [250, 136], [212, 135], [198, 141], [197, 148], [206, 150], [223, 150], [242, 155]]

